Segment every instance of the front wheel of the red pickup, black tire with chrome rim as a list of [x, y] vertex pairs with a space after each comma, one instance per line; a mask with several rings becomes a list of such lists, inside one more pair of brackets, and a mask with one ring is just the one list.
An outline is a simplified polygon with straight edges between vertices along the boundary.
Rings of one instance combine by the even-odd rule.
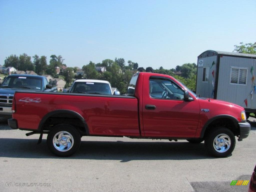
[[[221, 152], [220, 147], [218, 148], [218, 147], [215, 147], [217, 145], [214, 145], [215, 139], [218, 135], [222, 135], [223, 137], [222, 141], [229, 140], [229, 147], [225, 142], [225, 145], [223, 145], [223, 152]], [[210, 155], [215, 157], [227, 157], [233, 152], [235, 146], [236, 146], [235, 136], [233, 132], [226, 127], [216, 127], [216, 128], [213, 127], [212, 130], [210, 130], [205, 137], [206, 150]]]

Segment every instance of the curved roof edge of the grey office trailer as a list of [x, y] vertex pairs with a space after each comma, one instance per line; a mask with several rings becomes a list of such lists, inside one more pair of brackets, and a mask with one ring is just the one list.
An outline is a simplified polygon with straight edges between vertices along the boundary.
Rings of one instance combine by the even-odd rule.
[[249, 57], [256, 59], [256, 55], [253, 54], [246, 54], [246, 53], [236, 53], [236, 52], [225, 52], [225, 51], [214, 51], [214, 50], [207, 50], [202, 52], [198, 58], [210, 57], [215, 55], [227, 55], [227, 56], [238, 56], [238, 57]]

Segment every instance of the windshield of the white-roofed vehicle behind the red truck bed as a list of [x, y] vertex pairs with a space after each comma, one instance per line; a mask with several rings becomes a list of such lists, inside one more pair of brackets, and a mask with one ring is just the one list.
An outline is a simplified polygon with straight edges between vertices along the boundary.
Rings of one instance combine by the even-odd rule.
[[70, 92], [112, 95], [112, 91], [108, 83], [98, 82], [75, 82]]

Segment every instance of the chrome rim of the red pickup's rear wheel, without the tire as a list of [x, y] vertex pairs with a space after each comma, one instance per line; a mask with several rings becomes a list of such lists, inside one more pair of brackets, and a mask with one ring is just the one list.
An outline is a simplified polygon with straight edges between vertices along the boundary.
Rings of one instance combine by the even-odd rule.
[[74, 138], [69, 132], [60, 131], [54, 135], [52, 143], [58, 151], [65, 152], [73, 147]]

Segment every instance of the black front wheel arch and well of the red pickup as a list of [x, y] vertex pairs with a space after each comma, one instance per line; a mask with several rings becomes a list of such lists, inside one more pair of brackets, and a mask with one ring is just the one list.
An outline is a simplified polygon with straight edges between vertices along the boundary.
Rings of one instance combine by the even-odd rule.
[[239, 135], [238, 120], [231, 115], [217, 115], [209, 119], [202, 128], [200, 137], [203, 138], [205, 134], [216, 126], [225, 126], [229, 128], [234, 135]]

